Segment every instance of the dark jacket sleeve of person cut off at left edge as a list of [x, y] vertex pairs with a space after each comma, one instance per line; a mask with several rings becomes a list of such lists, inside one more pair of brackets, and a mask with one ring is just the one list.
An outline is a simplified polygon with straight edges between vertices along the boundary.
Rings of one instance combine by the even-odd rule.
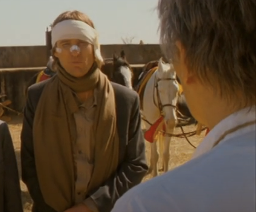
[[8, 125], [0, 120], [0, 211], [22, 212], [21, 187]]

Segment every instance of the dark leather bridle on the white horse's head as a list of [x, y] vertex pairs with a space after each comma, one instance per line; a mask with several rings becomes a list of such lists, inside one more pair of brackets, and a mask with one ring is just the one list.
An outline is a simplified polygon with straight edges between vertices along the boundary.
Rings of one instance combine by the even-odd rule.
[[[164, 107], [173, 107], [175, 110], [177, 110], [176, 105], [173, 105], [173, 104], [170, 104], [170, 103], [162, 104], [160, 94], [159, 94], [158, 82], [160, 82], [160, 81], [170, 81], [170, 80], [175, 80], [177, 82], [176, 78], [159, 79], [159, 78], [156, 77], [156, 75], [155, 75], [155, 78], [154, 78], [153, 101], [154, 101], [154, 105], [158, 108], [161, 115], [164, 115], [164, 112], [163, 112]], [[156, 103], [155, 95], [154, 95], [155, 91], [156, 91], [156, 95], [157, 95], [157, 103]]]

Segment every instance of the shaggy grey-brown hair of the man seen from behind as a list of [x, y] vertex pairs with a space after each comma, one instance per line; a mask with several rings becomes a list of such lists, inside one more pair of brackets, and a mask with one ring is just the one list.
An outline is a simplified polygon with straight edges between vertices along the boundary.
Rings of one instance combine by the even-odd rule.
[[242, 92], [242, 104], [255, 104], [255, 11], [255, 0], [159, 0], [162, 49], [175, 59], [180, 41], [205, 85], [233, 102]]

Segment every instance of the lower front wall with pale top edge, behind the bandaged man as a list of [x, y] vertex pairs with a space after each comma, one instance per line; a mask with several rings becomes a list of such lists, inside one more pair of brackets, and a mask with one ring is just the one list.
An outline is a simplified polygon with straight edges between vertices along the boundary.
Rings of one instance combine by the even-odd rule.
[[[142, 65], [133, 65], [135, 78], [141, 73]], [[36, 68], [19, 68], [19, 69], [0, 69], [0, 94], [6, 94], [7, 99], [12, 101], [9, 106], [11, 109], [22, 112], [26, 103], [26, 88], [30, 79], [38, 71], [43, 70], [45, 67]], [[103, 67], [104, 73], [110, 73], [113, 66]], [[1, 99], [6, 100], [6, 99]], [[13, 113], [8, 113], [13, 114]], [[14, 114], [15, 115], [15, 114]]]

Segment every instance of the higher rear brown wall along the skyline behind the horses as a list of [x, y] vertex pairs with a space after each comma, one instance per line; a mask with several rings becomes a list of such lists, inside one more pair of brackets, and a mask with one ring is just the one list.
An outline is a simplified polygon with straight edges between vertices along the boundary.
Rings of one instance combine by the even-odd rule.
[[[112, 58], [113, 53], [125, 51], [127, 61], [130, 64], [145, 64], [162, 57], [158, 44], [111, 44], [101, 45], [103, 58]], [[0, 69], [40, 67], [47, 63], [46, 46], [11, 46], [0, 47]]]

